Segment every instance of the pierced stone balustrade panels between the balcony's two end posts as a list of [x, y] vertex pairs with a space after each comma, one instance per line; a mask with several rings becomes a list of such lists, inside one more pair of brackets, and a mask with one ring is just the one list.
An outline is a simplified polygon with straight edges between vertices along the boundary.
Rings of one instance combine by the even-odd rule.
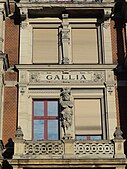
[[[66, 149], [70, 145], [72, 150]], [[72, 152], [71, 152], [72, 151]], [[61, 156], [72, 153], [73, 156], [93, 157], [93, 158], [113, 158], [114, 144], [107, 140], [98, 141], [74, 141], [74, 140], [59, 140], [59, 141], [25, 141], [24, 142], [24, 156], [38, 158], [45, 158], [46, 156]]]

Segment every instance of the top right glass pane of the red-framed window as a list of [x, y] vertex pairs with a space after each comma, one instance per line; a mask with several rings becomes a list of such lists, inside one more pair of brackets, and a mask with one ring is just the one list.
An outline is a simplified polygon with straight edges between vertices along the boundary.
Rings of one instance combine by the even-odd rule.
[[58, 116], [58, 102], [57, 101], [48, 102], [48, 116]]

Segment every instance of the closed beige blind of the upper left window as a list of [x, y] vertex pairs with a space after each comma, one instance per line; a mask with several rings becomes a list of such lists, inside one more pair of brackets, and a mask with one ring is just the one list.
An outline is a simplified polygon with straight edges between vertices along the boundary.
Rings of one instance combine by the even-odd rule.
[[33, 29], [33, 63], [58, 63], [58, 29]]

